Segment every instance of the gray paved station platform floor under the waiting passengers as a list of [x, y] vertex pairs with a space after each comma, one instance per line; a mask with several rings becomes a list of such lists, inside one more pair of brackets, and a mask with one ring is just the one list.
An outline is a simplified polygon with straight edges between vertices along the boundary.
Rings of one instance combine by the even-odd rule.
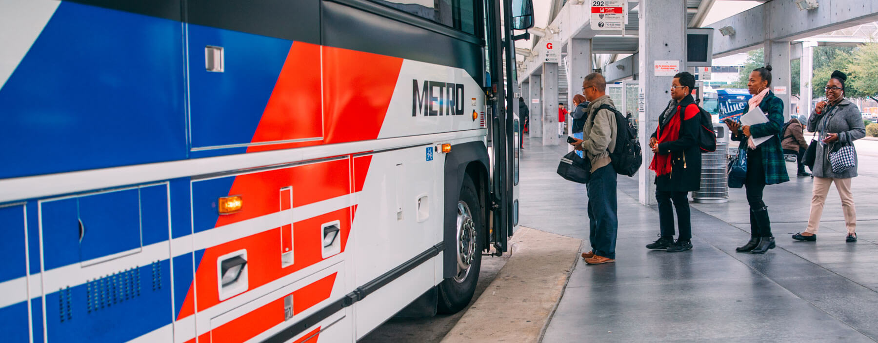
[[[637, 175], [619, 175], [616, 261], [578, 259], [543, 342], [878, 340], [878, 141], [856, 146], [859, 241], [845, 241], [834, 186], [817, 242], [790, 238], [807, 224], [812, 179], [795, 177], [788, 162], [791, 181], [766, 187], [777, 248], [762, 255], [735, 252], [749, 239], [744, 189], [730, 189], [725, 204], [690, 203], [694, 249], [646, 249], [659, 233], [658, 209], [637, 201]], [[555, 174], [566, 152], [525, 140], [520, 223], [583, 239], [587, 249], [586, 186]]]

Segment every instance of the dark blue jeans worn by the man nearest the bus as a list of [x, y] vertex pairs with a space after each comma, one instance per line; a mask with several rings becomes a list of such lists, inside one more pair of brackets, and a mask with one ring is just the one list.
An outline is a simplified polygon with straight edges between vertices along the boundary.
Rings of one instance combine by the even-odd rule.
[[588, 194], [588, 240], [594, 254], [615, 260], [616, 217], [615, 170], [612, 165], [592, 172], [586, 184]]

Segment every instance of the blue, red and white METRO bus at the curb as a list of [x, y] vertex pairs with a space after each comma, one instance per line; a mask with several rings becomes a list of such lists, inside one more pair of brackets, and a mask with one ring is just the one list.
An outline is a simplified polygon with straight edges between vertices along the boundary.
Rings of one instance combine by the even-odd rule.
[[532, 25], [529, 0], [0, 2], [4, 342], [462, 310], [518, 225]]

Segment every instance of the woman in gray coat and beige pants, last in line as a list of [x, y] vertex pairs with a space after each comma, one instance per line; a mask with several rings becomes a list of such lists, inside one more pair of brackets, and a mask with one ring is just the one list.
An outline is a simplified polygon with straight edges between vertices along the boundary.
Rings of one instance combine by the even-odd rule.
[[845, 213], [845, 226], [847, 227], [847, 241], [857, 240], [857, 211], [853, 206], [853, 193], [851, 192], [851, 179], [857, 175], [856, 151], [854, 151], [854, 166], [840, 173], [832, 172], [829, 161], [831, 151], [838, 146], [853, 146], [853, 141], [866, 136], [866, 127], [857, 105], [845, 98], [845, 81], [847, 75], [838, 70], [832, 72], [829, 82], [826, 82], [826, 101], [817, 103], [811, 117], [808, 120], [809, 132], [820, 132], [819, 139], [823, 143], [817, 143], [817, 154], [814, 159], [814, 194], [811, 197], [811, 213], [808, 218], [808, 228], [805, 232], [796, 233], [796, 240], [817, 240], [817, 228], [820, 225], [820, 216], [823, 214], [826, 194], [829, 187], [835, 183], [838, 196], [841, 197], [841, 208]]

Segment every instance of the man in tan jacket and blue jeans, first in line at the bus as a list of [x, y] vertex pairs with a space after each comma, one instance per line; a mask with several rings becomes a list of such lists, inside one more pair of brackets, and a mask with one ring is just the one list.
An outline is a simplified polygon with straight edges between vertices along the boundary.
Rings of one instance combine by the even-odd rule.
[[582, 127], [582, 139], [575, 139], [571, 143], [576, 150], [585, 151], [586, 158], [592, 162], [591, 179], [586, 183], [588, 240], [592, 250], [582, 254], [588, 264], [615, 261], [615, 238], [619, 228], [616, 173], [609, 158], [615, 149], [615, 113], [600, 109], [603, 104], [615, 108], [606, 90], [607, 81], [603, 75], [586, 75], [582, 82], [582, 94], [591, 104], [588, 104], [586, 112], [586, 125]]

